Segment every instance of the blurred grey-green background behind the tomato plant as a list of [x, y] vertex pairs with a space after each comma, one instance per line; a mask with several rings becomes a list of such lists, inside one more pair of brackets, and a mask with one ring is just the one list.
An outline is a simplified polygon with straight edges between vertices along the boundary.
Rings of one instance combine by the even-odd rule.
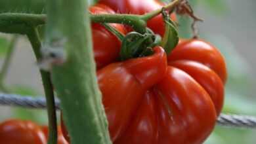
[[[44, 0], [0, 0], [0, 12], [44, 13], [44, 3]], [[223, 113], [256, 116], [256, 1], [190, 0], [190, 3], [196, 15], [204, 20], [198, 23], [200, 37], [217, 46], [226, 58], [229, 77]], [[179, 17], [181, 37], [191, 37], [190, 24], [186, 16]], [[13, 37], [0, 33], [1, 65]], [[26, 37], [19, 36], [14, 46], [7, 77], [0, 80], [1, 90], [5, 87], [10, 93], [43, 95], [39, 71]], [[0, 121], [8, 118], [47, 124], [46, 111], [0, 106]], [[216, 126], [205, 144], [255, 144], [255, 135], [256, 130]]]

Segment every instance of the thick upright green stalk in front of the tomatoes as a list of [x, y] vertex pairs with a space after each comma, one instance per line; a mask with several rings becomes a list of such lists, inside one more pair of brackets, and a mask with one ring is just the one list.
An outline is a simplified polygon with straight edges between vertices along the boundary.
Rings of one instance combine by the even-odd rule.
[[72, 144], [108, 144], [108, 123], [96, 81], [88, 2], [47, 1], [46, 46], [66, 58], [51, 69]]

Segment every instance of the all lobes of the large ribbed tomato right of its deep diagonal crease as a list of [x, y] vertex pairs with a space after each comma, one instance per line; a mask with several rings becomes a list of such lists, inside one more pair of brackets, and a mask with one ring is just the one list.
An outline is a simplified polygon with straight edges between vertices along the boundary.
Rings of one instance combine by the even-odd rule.
[[168, 65], [114, 143], [200, 144], [211, 134], [223, 107], [223, 56], [205, 41], [182, 40]]

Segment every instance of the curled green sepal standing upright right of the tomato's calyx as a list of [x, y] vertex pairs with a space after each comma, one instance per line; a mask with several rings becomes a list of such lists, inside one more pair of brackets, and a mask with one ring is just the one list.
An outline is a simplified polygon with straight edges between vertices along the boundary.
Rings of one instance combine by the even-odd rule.
[[165, 20], [165, 34], [163, 35], [161, 46], [165, 49], [165, 52], [169, 54], [179, 43], [179, 36], [175, 22], [173, 22], [170, 16], [164, 11], [163, 17]]

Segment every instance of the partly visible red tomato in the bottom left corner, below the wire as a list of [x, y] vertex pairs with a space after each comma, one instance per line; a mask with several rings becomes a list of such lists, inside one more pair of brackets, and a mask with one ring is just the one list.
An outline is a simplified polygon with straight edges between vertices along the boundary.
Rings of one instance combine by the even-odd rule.
[[28, 120], [7, 120], [0, 124], [0, 143], [46, 144], [40, 126]]

